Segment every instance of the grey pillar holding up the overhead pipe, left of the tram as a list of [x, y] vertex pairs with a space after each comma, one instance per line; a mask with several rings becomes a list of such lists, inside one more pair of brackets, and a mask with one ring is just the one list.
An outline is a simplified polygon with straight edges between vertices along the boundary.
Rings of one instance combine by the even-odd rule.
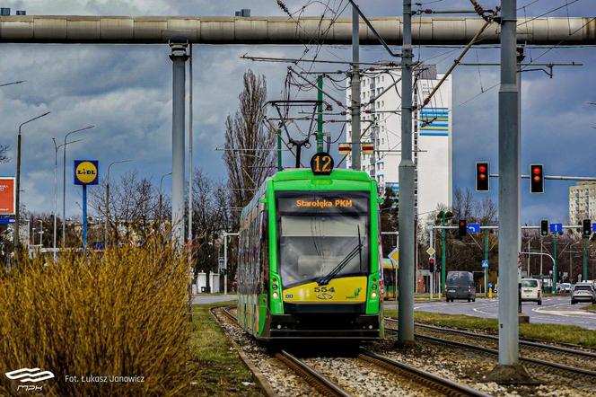
[[188, 44], [170, 43], [172, 62], [171, 118], [171, 232], [172, 241], [184, 245], [184, 108]]

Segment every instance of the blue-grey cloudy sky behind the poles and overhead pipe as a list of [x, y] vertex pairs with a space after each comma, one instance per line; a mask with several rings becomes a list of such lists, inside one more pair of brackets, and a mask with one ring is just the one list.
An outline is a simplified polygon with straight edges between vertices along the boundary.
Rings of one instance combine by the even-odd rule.
[[[101, 15], [233, 15], [250, 8], [252, 15], [283, 15], [276, 0], [183, 1], [183, 0], [30, 0], [0, 2], [28, 14]], [[327, 3], [327, 0], [325, 1]], [[342, 4], [343, 3], [343, 4]], [[361, 1], [367, 15], [400, 15], [398, 0]], [[596, 16], [592, 0], [518, 0], [520, 16]], [[291, 11], [306, 0], [287, 0]], [[346, 1], [329, 0], [333, 9]], [[483, 1], [487, 8], [498, 4]], [[469, 8], [464, 0], [429, 2], [424, 7], [438, 10]], [[319, 3], [304, 10], [320, 15]], [[349, 16], [348, 10], [344, 11]], [[217, 179], [225, 178], [222, 152], [226, 115], [237, 107], [242, 74], [252, 68], [266, 75], [269, 99], [279, 99], [285, 79], [284, 64], [251, 63], [240, 59], [245, 53], [259, 56], [298, 57], [304, 46], [206, 46], [195, 51], [195, 164]], [[416, 49], [416, 57], [434, 57], [439, 72], [451, 65], [459, 50]], [[522, 172], [530, 163], [544, 163], [547, 174], [594, 176], [596, 147], [595, 79], [596, 51], [593, 48], [530, 48], [529, 61], [576, 62], [581, 67], [559, 67], [553, 78], [540, 71], [522, 75]], [[80, 211], [80, 190], [72, 185], [72, 160], [97, 158], [103, 166], [121, 159], [133, 163], [112, 167], [111, 177], [136, 169], [159, 183], [171, 171], [171, 61], [163, 45], [22, 45], [2, 44], [0, 83], [27, 80], [27, 83], [0, 88], [0, 143], [10, 145], [10, 163], [0, 164], [0, 174], [15, 170], [16, 132], [23, 120], [44, 111], [51, 114], [24, 128], [22, 149], [22, 201], [29, 209], [50, 212], [54, 191], [54, 146], [66, 132], [95, 125], [78, 137], [81, 143], [68, 147], [67, 216]], [[349, 59], [345, 46], [324, 48], [321, 59]], [[376, 47], [363, 47], [362, 60], [375, 61], [388, 56]], [[495, 62], [498, 49], [472, 49], [469, 62]], [[328, 67], [329, 69], [329, 67]], [[316, 69], [313, 69], [316, 70]], [[471, 188], [474, 162], [489, 160], [496, 170], [497, 91], [486, 91], [498, 83], [495, 67], [460, 67], [453, 77], [453, 178], [454, 187]], [[484, 92], [484, 93], [483, 93]], [[340, 94], [337, 93], [339, 96]], [[58, 157], [61, 175], [61, 156]], [[290, 159], [287, 163], [290, 163]], [[105, 169], [103, 169], [105, 171]], [[548, 181], [547, 193], [530, 197], [528, 182], [522, 181], [522, 220], [539, 219], [565, 222], [568, 182]], [[496, 183], [491, 195], [496, 198]], [[168, 190], [169, 190], [168, 186]], [[61, 189], [61, 188], [60, 188]], [[90, 188], [91, 189], [91, 188]], [[59, 190], [60, 191], [60, 190]]]

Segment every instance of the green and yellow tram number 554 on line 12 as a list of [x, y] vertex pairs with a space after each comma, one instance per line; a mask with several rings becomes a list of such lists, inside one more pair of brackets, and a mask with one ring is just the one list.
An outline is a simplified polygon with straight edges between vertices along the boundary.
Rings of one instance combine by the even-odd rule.
[[381, 338], [376, 182], [315, 173], [277, 172], [243, 208], [238, 321], [261, 340]]

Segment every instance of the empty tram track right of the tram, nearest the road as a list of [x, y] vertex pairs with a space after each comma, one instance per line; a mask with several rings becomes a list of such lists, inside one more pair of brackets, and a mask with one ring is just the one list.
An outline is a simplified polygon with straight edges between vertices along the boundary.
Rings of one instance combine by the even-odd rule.
[[[386, 320], [388, 320], [388, 319], [386, 319]], [[416, 325], [416, 326], [419, 327], [419, 325]], [[396, 330], [390, 329], [390, 328], [386, 328], [385, 331], [397, 332]], [[451, 329], [443, 329], [442, 327], [435, 327], [434, 331], [442, 331], [445, 333], [449, 333], [451, 331]], [[458, 332], [451, 332], [451, 333], [459, 334]], [[477, 337], [477, 334], [474, 334], [473, 332], [466, 332], [466, 333], [463, 333], [460, 335], [465, 336], [467, 338], [467, 340], [465, 342], [458, 341], [458, 340], [450, 340], [450, 339], [445, 339], [445, 335], [443, 335], [443, 338], [439, 338], [436, 336], [416, 332], [416, 338], [418, 340], [425, 340], [425, 341], [428, 341], [431, 343], [441, 344], [443, 346], [448, 346], [451, 348], [465, 348], [468, 350], [485, 353], [490, 356], [498, 356], [499, 352], [498, 352], [498, 349], [496, 349], [496, 348], [487, 348], [486, 346], [479, 346], [478, 344], [470, 343], [469, 338], [477, 338], [478, 340], [484, 340], [485, 338], [483, 338], [483, 337], [485, 337], [485, 335], [479, 335]], [[447, 337], [447, 338], [449, 338], [449, 337]], [[494, 342], [494, 340], [491, 340], [491, 342]], [[538, 344], [538, 345], [540, 345], [540, 344]], [[533, 346], [533, 348], [541, 349], [541, 350], [548, 350], [548, 346], [549, 345], [543, 345], [543, 346], [539, 346], [539, 347]], [[557, 354], [560, 354], [558, 349], [553, 349], [553, 351], [556, 351]], [[580, 353], [579, 351], [577, 351], [576, 353], [579, 353], [577, 355], [578, 357], [590, 357], [590, 352], [581, 351], [581, 353]], [[586, 353], [587, 356], [584, 353]], [[549, 360], [546, 360], [543, 358], [528, 357], [528, 356], [520, 356], [520, 361], [523, 364], [525, 364], [526, 366], [536, 367], [541, 370], [546, 370], [551, 373], [556, 373], [557, 375], [562, 375], [561, 372], [563, 372], [566, 375], [580, 377], [582, 379], [588, 380], [592, 384], [596, 384], [596, 371], [593, 371], [592, 369], [580, 368], [578, 366], [566, 365], [566, 364], [549, 361]]]

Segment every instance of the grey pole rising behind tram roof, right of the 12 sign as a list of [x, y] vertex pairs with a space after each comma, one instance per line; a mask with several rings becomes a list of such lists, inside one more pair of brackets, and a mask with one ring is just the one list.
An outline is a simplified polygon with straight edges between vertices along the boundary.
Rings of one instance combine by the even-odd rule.
[[[352, 170], [360, 171], [360, 16], [352, 7]], [[320, 91], [319, 91], [320, 92]]]

